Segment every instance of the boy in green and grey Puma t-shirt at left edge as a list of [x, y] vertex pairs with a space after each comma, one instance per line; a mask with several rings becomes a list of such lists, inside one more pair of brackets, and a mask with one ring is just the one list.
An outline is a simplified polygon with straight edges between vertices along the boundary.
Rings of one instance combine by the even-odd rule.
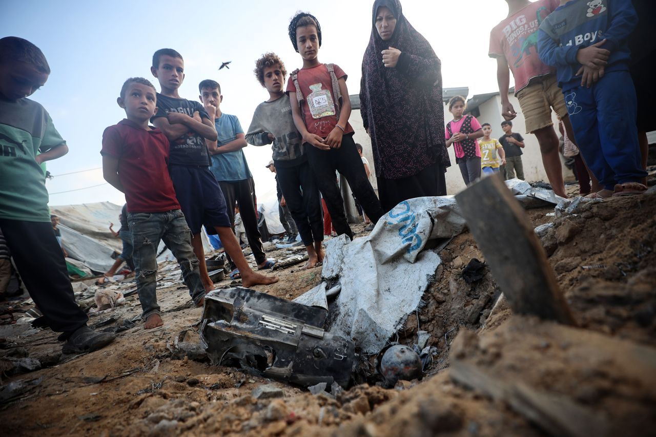
[[41, 326], [61, 332], [64, 354], [100, 349], [112, 333], [87, 327], [77, 306], [64, 254], [52, 230], [44, 161], [68, 146], [48, 112], [27, 97], [48, 80], [50, 67], [38, 47], [18, 37], [0, 39], [0, 229], [30, 296], [43, 312]]

